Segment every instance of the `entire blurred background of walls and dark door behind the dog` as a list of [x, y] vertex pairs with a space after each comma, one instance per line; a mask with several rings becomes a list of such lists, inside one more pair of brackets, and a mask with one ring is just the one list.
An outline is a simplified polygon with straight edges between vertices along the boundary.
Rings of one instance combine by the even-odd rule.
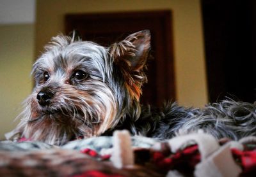
[[19, 122], [43, 46], [72, 29], [105, 46], [150, 29], [143, 103], [255, 101], [255, 10], [253, 0], [1, 0], [0, 138]]

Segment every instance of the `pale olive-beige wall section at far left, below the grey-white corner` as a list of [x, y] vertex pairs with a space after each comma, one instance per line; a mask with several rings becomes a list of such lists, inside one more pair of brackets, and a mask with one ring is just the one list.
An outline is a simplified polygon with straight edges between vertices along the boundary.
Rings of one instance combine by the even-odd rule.
[[0, 139], [19, 122], [21, 103], [31, 92], [29, 77], [34, 25], [0, 25]]

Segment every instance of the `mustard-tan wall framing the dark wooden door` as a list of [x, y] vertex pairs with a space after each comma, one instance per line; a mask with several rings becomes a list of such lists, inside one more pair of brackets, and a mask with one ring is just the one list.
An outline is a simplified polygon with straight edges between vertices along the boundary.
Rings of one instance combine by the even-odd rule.
[[172, 10], [177, 101], [184, 106], [207, 103], [200, 0], [38, 0], [36, 53], [51, 36], [64, 32], [66, 13]]

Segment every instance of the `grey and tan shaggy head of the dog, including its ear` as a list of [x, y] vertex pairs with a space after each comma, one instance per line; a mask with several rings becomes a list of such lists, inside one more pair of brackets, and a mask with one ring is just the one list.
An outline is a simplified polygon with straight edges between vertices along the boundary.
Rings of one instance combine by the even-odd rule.
[[33, 65], [35, 88], [15, 129], [21, 136], [60, 145], [99, 136], [126, 114], [140, 115], [148, 31], [108, 48], [57, 36], [45, 49]]

